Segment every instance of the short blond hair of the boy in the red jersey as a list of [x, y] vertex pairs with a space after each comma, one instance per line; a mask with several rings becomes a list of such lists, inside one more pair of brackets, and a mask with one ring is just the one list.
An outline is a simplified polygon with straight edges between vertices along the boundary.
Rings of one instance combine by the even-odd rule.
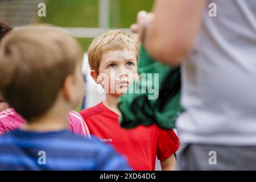
[[108, 51], [128, 49], [134, 51], [138, 60], [140, 42], [137, 36], [125, 34], [120, 30], [110, 30], [93, 39], [88, 49], [90, 69], [98, 72], [101, 56]]

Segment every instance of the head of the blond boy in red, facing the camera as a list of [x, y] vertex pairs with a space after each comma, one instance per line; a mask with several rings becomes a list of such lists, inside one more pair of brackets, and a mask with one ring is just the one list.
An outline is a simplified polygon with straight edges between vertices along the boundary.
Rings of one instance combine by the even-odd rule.
[[137, 37], [119, 30], [110, 30], [95, 38], [88, 49], [91, 76], [106, 93], [117, 96], [138, 76], [139, 52]]

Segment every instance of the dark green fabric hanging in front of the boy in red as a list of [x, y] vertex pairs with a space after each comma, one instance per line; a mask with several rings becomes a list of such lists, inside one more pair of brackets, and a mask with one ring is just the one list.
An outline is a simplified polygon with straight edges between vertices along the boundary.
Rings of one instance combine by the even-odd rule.
[[[118, 108], [122, 113], [121, 126], [133, 129], [138, 125], [149, 126], [156, 123], [163, 129], [174, 128], [177, 115], [183, 111], [180, 106], [180, 68], [171, 68], [151, 59], [142, 46], [138, 73], [144, 73], [146, 79], [144, 77], [139, 82], [130, 84], [129, 91], [118, 100]], [[148, 73], [158, 73], [158, 79], [154, 74], [148, 76]], [[152, 93], [152, 90], [155, 92]], [[129, 93], [131, 91], [133, 93]], [[154, 94], [158, 94], [158, 98], [149, 99]]]

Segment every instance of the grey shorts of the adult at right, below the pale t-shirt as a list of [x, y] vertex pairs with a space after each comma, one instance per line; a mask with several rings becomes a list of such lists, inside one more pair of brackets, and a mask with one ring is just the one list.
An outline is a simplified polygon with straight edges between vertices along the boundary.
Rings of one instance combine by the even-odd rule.
[[177, 170], [256, 170], [256, 146], [183, 144]]

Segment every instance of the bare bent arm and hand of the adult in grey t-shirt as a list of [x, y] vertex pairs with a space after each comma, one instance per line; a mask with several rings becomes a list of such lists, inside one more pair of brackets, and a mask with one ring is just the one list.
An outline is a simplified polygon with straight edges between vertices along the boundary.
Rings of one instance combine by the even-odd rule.
[[141, 38], [150, 56], [164, 64], [176, 66], [191, 50], [200, 27], [205, 0], [158, 0], [153, 14], [140, 11], [137, 24], [131, 26]]

